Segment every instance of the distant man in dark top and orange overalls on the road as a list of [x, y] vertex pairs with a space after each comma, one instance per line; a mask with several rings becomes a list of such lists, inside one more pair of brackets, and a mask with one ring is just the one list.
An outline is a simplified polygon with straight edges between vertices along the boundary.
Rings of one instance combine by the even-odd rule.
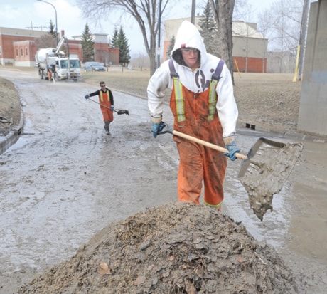
[[100, 90], [96, 90], [93, 93], [85, 95], [85, 99], [96, 95], [99, 96], [100, 110], [104, 120], [104, 130], [106, 131], [107, 135], [109, 135], [109, 125], [114, 120], [114, 95], [112, 95], [112, 91], [106, 87], [106, 83], [103, 81], [100, 82], [100, 87]]

